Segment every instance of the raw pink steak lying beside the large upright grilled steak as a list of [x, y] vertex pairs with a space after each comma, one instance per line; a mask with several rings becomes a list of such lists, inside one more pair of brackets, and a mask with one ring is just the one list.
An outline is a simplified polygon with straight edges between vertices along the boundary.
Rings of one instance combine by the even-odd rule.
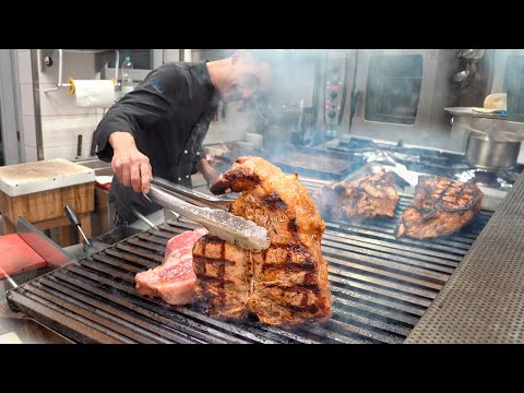
[[188, 230], [172, 237], [166, 245], [164, 263], [135, 275], [138, 293], [160, 297], [169, 305], [187, 305], [193, 300], [194, 281], [193, 245], [206, 235], [205, 228]]

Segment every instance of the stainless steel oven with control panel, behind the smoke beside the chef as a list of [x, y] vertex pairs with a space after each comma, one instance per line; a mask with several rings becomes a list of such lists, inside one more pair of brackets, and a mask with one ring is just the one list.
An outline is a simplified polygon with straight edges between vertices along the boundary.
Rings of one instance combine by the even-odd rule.
[[455, 50], [295, 49], [294, 56], [303, 66], [283, 83], [278, 104], [298, 108], [308, 120], [299, 124], [315, 141], [359, 136], [453, 150], [444, 108], [457, 106], [462, 94], [452, 81], [461, 69]]

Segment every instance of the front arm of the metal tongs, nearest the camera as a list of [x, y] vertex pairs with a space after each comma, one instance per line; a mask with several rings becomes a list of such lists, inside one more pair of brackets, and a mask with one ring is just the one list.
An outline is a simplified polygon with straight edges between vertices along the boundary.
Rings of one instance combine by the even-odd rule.
[[151, 184], [150, 193], [145, 198], [202, 224], [211, 235], [218, 236], [221, 239], [237, 243], [248, 250], [261, 251], [270, 247], [265, 228], [226, 211], [195, 206], [177, 198], [169, 190], [153, 183]]

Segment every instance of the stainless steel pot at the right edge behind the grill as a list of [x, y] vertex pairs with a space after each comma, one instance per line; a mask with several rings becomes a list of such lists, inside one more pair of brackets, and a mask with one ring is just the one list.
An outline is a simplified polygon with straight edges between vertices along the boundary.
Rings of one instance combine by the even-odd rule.
[[487, 134], [469, 132], [466, 144], [466, 159], [483, 169], [508, 169], [516, 165], [521, 141], [493, 140]]

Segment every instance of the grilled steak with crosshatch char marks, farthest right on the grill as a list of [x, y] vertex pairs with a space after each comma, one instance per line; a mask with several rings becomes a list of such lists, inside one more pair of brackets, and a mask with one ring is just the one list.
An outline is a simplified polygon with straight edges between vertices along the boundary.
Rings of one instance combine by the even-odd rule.
[[395, 235], [415, 239], [451, 235], [475, 218], [483, 198], [475, 183], [443, 176], [419, 176], [415, 203], [402, 214]]

